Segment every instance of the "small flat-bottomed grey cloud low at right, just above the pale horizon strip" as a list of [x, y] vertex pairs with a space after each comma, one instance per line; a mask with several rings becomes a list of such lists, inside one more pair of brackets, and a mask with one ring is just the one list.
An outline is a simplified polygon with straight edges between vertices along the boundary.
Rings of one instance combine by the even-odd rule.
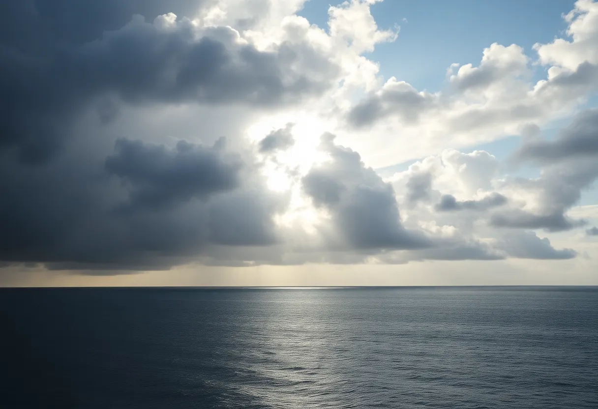
[[566, 260], [577, 255], [577, 252], [572, 249], [554, 249], [550, 245], [550, 240], [540, 239], [532, 231], [505, 234], [497, 247], [507, 252], [511, 257], [517, 258]]

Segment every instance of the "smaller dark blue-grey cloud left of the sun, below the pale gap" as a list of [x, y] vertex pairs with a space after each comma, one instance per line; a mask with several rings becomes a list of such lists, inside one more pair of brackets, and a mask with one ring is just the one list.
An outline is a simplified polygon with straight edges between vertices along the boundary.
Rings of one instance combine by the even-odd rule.
[[[220, 142], [220, 141], [219, 141]], [[116, 154], [106, 158], [106, 170], [132, 187], [130, 205], [164, 206], [205, 199], [239, 185], [240, 158], [213, 147], [180, 141], [175, 149], [164, 145], [120, 139]]]

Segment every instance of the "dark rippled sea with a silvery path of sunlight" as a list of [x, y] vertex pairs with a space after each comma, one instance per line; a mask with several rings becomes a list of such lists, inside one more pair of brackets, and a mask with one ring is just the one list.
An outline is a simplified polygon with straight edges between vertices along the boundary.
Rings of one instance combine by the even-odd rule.
[[598, 288], [2, 289], [1, 408], [598, 408]]

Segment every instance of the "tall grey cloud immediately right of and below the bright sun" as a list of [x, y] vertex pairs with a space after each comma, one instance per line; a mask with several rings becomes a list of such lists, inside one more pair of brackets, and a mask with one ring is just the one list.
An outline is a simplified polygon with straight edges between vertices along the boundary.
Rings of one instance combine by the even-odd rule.
[[357, 249], [414, 249], [430, 246], [423, 234], [401, 225], [395, 193], [357, 152], [322, 136], [321, 148], [331, 161], [313, 167], [303, 188], [316, 207], [331, 213], [341, 240]]

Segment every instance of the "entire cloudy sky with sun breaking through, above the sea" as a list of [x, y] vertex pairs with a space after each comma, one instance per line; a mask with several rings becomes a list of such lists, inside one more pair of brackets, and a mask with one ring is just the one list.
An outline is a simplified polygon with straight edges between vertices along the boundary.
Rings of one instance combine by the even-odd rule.
[[0, 13], [0, 286], [598, 285], [596, 1]]

